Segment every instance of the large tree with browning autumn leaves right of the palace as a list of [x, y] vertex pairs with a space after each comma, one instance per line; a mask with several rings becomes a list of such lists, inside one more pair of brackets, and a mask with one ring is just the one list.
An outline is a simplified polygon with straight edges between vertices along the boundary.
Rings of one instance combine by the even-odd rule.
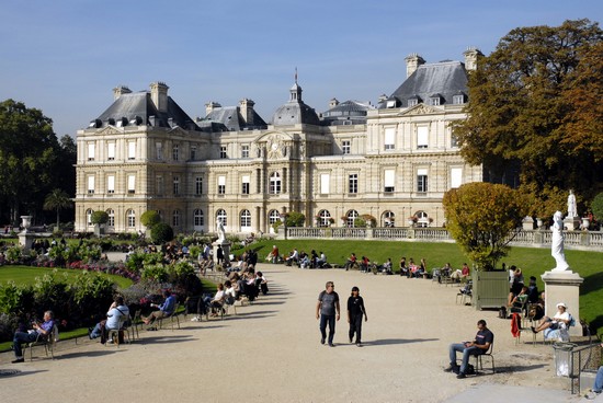
[[600, 97], [580, 107], [573, 103], [592, 100], [585, 93], [593, 83], [601, 88], [603, 74], [590, 66], [601, 67], [602, 41], [603, 32], [589, 20], [520, 27], [501, 38], [470, 74], [468, 118], [454, 128], [467, 161], [485, 164], [492, 177], [519, 164], [522, 185], [537, 194], [589, 194], [596, 187]]

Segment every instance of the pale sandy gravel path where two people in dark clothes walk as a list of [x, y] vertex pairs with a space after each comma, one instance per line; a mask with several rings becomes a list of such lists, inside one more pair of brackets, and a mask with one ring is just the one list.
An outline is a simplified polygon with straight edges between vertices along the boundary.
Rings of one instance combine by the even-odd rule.
[[[455, 304], [456, 287], [341, 269], [260, 265], [270, 293], [238, 315], [182, 321], [141, 333], [132, 345], [61, 341], [56, 359], [0, 355], [0, 402], [576, 402], [556, 378], [550, 346], [515, 346], [510, 321]], [[365, 299], [364, 347], [348, 343], [345, 315], [335, 347], [320, 345], [317, 296], [333, 280], [342, 307], [352, 286]], [[345, 308], [344, 308], [345, 309]], [[497, 373], [457, 380], [443, 372], [451, 342], [470, 339], [485, 319], [494, 332]], [[526, 337], [530, 341], [531, 336]]]

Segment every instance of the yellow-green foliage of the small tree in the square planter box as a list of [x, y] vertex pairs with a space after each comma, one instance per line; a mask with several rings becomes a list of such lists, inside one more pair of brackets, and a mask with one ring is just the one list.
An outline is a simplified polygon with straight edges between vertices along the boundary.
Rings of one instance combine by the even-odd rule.
[[517, 192], [504, 185], [468, 183], [444, 194], [446, 228], [480, 268], [496, 267], [509, 252], [512, 231], [525, 215]]

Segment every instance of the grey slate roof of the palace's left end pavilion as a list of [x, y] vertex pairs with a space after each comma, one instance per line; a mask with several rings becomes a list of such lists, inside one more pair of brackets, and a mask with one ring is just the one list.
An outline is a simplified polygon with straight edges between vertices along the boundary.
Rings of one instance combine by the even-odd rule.
[[[155, 120], [155, 122], [153, 122]], [[122, 94], [89, 127], [148, 125], [198, 130], [193, 119], [168, 96], [168, 111], [159, 112], [148, 91]]]

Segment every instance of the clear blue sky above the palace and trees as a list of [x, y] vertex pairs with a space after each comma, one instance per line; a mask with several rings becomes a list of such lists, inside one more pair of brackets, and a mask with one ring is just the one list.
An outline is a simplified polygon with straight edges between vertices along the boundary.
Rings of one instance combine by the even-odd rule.
[[514, 27], [602, 14], [600, 0], [0, 0], [0, 100], [42, 110], [59, 137], [104, 112], [114, 87], [153, 81], [192, 117], [248, 97], [269, 120], [296, 67], [317, 112], [332, 97], [375, 104], [411, 53], [462, 60]]

